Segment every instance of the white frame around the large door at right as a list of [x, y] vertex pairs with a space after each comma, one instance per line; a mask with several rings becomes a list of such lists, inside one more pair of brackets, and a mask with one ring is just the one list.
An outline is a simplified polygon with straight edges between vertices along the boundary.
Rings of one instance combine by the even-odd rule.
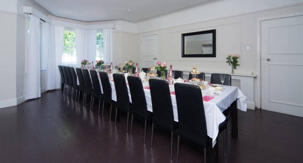
[[255, 98], [257, 101], [257, 108], [262, 107], [261, 104], [261, 22], [274, 20], [274, 19], [281, 19], [281, 18], [291, 18], [296, 16], [303, 16], [303, 12], [298, 12], [294, 14], [286, 14], [286, 15], [279, 15], [279, 16], [272, 16], [272, 17], [265, 17], [265, 18], [258, 18], [257, 19], [257, 97]]

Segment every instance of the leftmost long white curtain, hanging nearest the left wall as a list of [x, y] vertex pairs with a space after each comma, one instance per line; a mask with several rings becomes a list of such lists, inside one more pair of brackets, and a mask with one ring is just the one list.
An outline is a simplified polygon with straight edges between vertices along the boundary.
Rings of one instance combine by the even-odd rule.
[[26, 64], [26, 100], [41, 97], [39, 26], [40, 18], [31, 15]]

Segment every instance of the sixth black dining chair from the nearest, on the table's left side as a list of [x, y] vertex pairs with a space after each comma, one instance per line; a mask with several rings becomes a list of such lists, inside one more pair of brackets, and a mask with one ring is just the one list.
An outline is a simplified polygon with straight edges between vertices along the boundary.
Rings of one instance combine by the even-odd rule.
[[93, 88], [94, 88], [94, 91], [92, 93], [92, 96], [93, 96], [92, 110], [94, 108], [94, 99], [95, 98], [99, 100], [99, 110], [100, 110], [100, 103], [101, 103], [101, 100], [103, 100], [103, 94], [101, 93], [101, 87], [100, 87], [100, 82], [99, 82], [99, 78], [98, 78], [98, 73], [95, 70], [89, 70], [89, 72], [91, 73], [91, 78], [92, 78], [92, 83], [93, 83]]

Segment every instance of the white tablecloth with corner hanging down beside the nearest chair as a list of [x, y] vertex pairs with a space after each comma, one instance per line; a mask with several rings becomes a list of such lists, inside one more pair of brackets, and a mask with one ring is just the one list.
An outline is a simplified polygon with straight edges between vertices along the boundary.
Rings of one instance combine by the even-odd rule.
[[[112, 78], [109, 78], [110, 84], [112, 86], [112, 100], [117, 101], [116, 97], [116, 89], [115, 84]], [[99, 78], [100, 81], [100, 78]], [[126, 81], [127, 83], [127, 81]], [[190, 83], [188, 83], [190, 84]], [[142, 83], [143, 87], [149, 86], [148, 82]], [[102, 84], [100, 81], [101, 86], [101, 93]], [[131, 94], [128, 88], [128, 96], [129, 101], [132, 103]], [[208, 102], [203, 101], [204, 110], [205, 110], [205, 118], [206, 118], [206, 127], [207, 127], [207, 135], [212, 138], [212, 146], [216, 144], [216, 138], [219, 132], [219, 124], [225, 120], [225, 116], [223, 115], [223, 111], [228, 108], [235, 100], [237, 100], [237, 107], [242, 111], [246, 111], [246, 96], [241, 92], [238, 87], [235, 86], [223, 86], [223, 91], [219, 93], [215, 98], [211, 99]], [[170, 92], [174, 91], [175, 88], [173, 85], [169, 86]], [[145, 99], [147, 104], [147, 110], [152, 112], [152, 104], [151, 104], [151, 93], [149, 89], [143, 89], [145, 93]], [[202, 96], [207, 95], [205, 90], [202, 91]], [[176, 95], [171, 94], [171, 102], [174, 112], [174, 120], [178, 122], [178, 110], [177, 110], [177, 102], [176, 102]]]

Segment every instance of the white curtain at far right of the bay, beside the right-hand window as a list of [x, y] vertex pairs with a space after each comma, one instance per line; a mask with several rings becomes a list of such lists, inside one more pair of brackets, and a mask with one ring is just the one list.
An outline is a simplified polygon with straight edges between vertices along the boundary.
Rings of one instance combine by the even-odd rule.
[[103, 49], [105, 62], [113, 62], [114, 36], [112, 28], [103, 29]]

